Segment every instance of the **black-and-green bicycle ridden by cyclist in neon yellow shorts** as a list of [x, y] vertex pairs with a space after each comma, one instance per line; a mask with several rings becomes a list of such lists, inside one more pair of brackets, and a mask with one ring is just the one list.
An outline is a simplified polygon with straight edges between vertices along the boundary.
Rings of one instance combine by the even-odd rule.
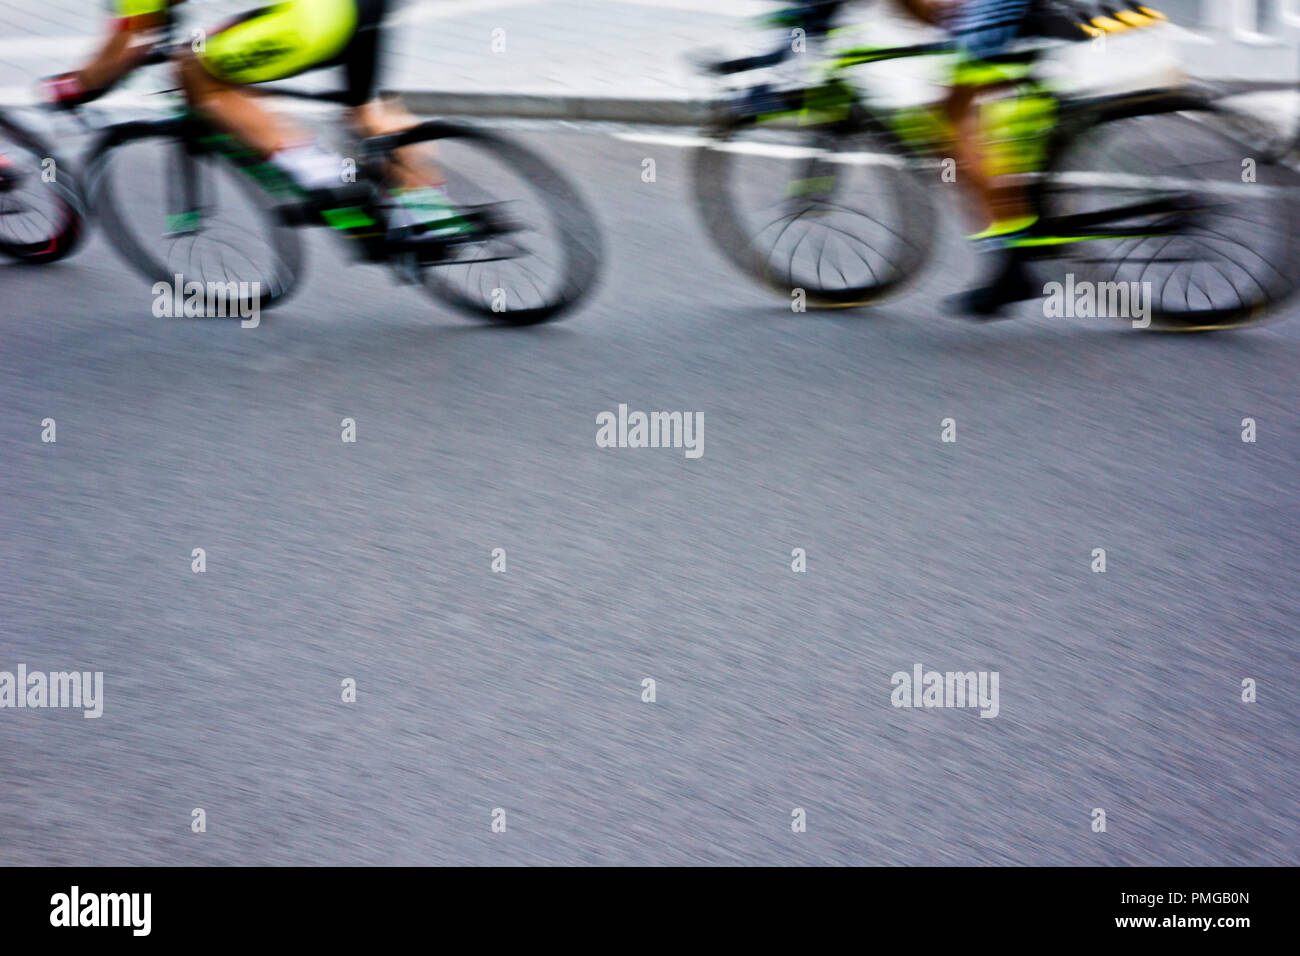
[[[169, 53], [160, 44], [143, 65]], [[389, 155], [429, 143], [437, 143], [437, 165], [456, 203], [455, 234], [393, 221], [398, 200], [385, 176]], [[313, 225], [342, 233], [361, 261], [386, 263], [402, 281], [499, 325], [555, 319], [594, 285], [601, 241], [586, 203], [545, 159], [499, 133], [430, 120], [358, 140], [347, 163], [341, 187], [322, 202], [198, 113], [179, 109], [103, 129], [88, 153], [88, 191], [114, 248], [139, 274], [168, 286], [239, 290], [231, 313], [270, 308], [290, 295], [303, 265], [298, 229]], [[228, 216], [231, 209], [239, 212]], [[545, 238], [554, 251], [538, 251]]]

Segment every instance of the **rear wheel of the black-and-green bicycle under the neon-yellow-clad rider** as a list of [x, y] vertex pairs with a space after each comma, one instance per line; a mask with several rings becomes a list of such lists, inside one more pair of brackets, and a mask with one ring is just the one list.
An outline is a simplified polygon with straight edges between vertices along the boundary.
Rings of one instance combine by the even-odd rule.
[[429, 163], [450, 200], [485, 224], [421, 263], [429, 293], [476, 319], [533, 325], [592, 290], [601, 261], [595, 219], [550, 163], [506, 137], [441, 121], [406, 130], [390, 148], [425, 143], [436, 144]]

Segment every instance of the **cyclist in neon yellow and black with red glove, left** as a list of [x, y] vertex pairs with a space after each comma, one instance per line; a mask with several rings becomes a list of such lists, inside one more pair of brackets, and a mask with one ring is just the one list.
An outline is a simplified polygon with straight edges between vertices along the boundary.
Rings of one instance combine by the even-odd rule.
[[[99, 52], [79, 70], [42, 82], [53, 105], [94, 100], [139, 66], [183, 0], [112, 0], [113, 21]], [[285, 0], [251, 10], [183, 48], [174, 59], [191, 107], [287, 176], [308, 194], [326, 198], [344, 182], [343, 159], [311, 133], [268, 111], [251, 83], [285, 79], [325, 66], [347, 77], [347, 117], [361, 137], [395, 133], [415, 118], [376, 99], [380, 26], [386, 0]], [[446, 200], [441, 173], [408, 151], [390, 168], [404, 208], [398, 225], [434, 225], [433, 234], [462, 228]], [[438, 225], [442, 224], [442, 225]]]

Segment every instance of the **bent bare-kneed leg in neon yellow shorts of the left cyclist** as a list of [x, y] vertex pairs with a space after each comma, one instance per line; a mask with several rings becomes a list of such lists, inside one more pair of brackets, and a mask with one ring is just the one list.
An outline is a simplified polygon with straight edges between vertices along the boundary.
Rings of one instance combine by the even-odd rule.
[[268, 111], [247, 86], [335, 61], [356, 25], [355, 0], [287, 0], [251, 10], [179, 57], [186, 96], [264, 156], [306, 146], [312, 135]]

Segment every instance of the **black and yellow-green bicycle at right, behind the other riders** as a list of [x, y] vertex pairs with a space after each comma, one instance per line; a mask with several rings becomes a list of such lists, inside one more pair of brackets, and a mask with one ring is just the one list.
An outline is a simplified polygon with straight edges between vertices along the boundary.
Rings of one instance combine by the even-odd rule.
[[[812, 7], [824, 18], [836, 4]], [[806, 23], [805, 13], [784, 10], [776, 22]], [[816, 30], [831, 34], [826, 22]], [[1034, 69], [1058, 46], [1022, 44], [1002, 57], [1019, 72], [1015, 95], [984, 107], [997, 170], [1023, 178], [1039, 216], [1018, 242], [1024, 258], [1040, 271], [1050, 263], [1050, 276], [1072, 286], [1140, 284], [1132, 289], [1148, 290], [1153, 329], [1239, 328], [1275, 315], [1300, 284], [1300, 174], [1210, 91], [1057, 92]], [[814, 83], [760, 83], [725, 99], [696, 150], [694, 189], [727, 258], [785, 295], [803, 290], [815, 307], [876, 303], [914, 281], [932, 250], [946, 121], [936, 107], [878, 105], [845, 73], [950, 52], [948, 42], [836, 49]], [[702, 65], [734, 75], [792, 55], [783, 44]], [[792, 168], [755, 173], [755, 160]], [[862, 182], [852, 182], [858, 172]]]

